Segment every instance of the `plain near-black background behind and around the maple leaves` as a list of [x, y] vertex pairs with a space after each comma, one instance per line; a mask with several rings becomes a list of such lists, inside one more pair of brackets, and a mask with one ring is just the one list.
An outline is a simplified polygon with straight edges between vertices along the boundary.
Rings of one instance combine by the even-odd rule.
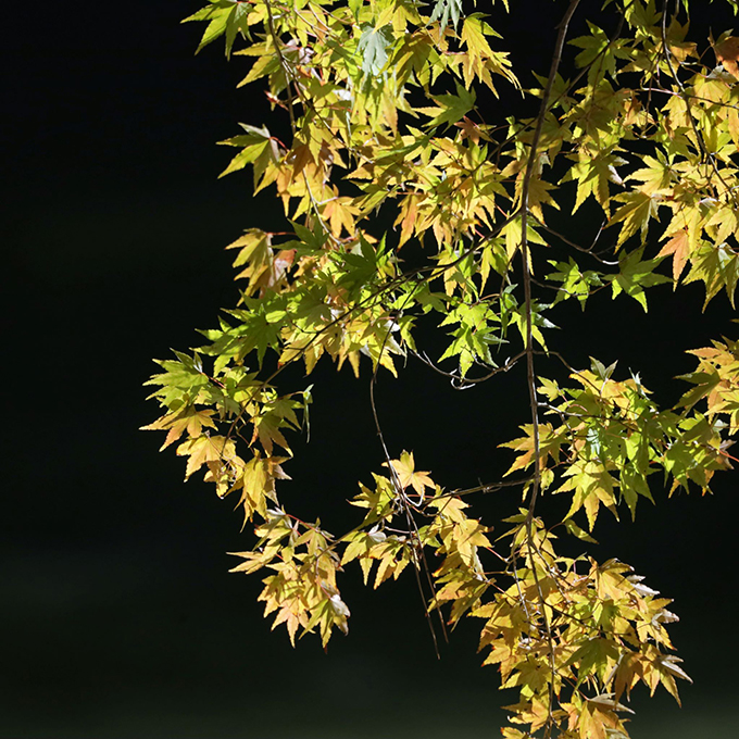
[[[156, 416], [141, 387], [151, 358], [197, 345], [193, 328], [237, 298], [223, 247], [249, 226], [281, 225], [249, 174], [216, 179], [229, 151], [214, 142], [270, 112], [258, 89], [235, 89], [245, 65], [227, 65], [221, 43], [193, 57], [202, 28], [178, 21], [200, 4], [3, 8], [0, 737], [497, 736], [497, 706], [514, 696], [479, 668], [478, 624], [437, 661], [410, 573], [367, 592], [353, 568], [351, 635], [327, 654], [310, 636], [293, 651], [261, 616], [259, 578], [227, 573], [225, 552], [250, 541], [231, 503], [183, 485], [183, 460], [137, 430]], [[543, 72], [562, 3], [536, 4], [536, 26], [519, 12], [505, 32], [514, 62], [539, 49]], [[702, 314], [696, 286], [654, 295], [647, 315], [604, 295], [585, 315], [563, 309], [558, 348], [580, 365], [619, 359], [675, 399], [669, 378], [691, 367], [682, 350], [736, 336], [734, 313], [722, 296]], [[353, 521], [343, 501], [383, 458], [366, 379], [320, 367], [312, 380], [312, 440], [296, 444], [283, 496], [340, 529]], [[460, 393], [412, 363], [378, 386], [392, 453], [414, 449], [447, 487], [510, 462], [496, 447], [526, 422], [524, 399], [521, 375]], [[736, 736], [737, 474], [714, 497], [657, 494], [635, 524], [603, 518], [594, 555], [634, 564], [676, 599], [672, 634], [696, 680], [682, 710], [639, 691], [636, 739]], [[516, 500], [480, 505], [502, 517]]]

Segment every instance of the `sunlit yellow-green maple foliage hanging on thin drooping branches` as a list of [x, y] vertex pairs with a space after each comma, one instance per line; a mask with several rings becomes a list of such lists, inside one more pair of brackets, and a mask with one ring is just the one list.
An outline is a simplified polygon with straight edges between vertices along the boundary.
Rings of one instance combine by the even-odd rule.
[[[289, 126], [243, 123], [223, 142], [237, 150], [224, 174], [250, 166], [286, 227], [250, 224], [229, 246], [240, 300], [203, 346], [160, 362], [149, 383], [163, 414], [146, 428], [187, 458], [186, 477], [238, 500], [255, 538], [234, 569], [262, 574], [265, 614], [293, 643], [348, 631], [340, 580], [353, 563], [375, 588], [415, 569], [429, 616], [480, 619], [485, 664], [517, 691], [504, 737], [613, 739], [628, 736], [623, 701], [638, 684], [678, 699], [689, 679], [667, 632], [677, 616], [629, 565], [565, 555], [558, 536], [585, 547], [601, 509], [634, 516], [655, 487], [706, 492], [731, 467], [739, 341], [686, 347], [689, 388], [660, 408], [636, 374], [571, 366], [548, 315], [564, 301], [587, 310], [601, 290], [647, 311], [664, 283], [702, 283], [706, 303], [724, 291], [734, 305], [739, 39], [691, 38], [687, 0], [560, 4], [534, 88], [496, 32], [519, 12], [506, 0], [486, 13], [460, 0], [210, 0], [186, 18], [206, 24], [199, 48], [222, 39], [248, 58], [240, 84], [262, 86]], [[587, 33], [574, 37], [578, 15]], [[478, 100], [504, 89], [528, 117], [496, 104], [487, 120]], [[591, 237], [548, 223], [571, 208], [577, 224], [590, 199], [603, 222]], [[406, 263], [409, 242], [422, 258]], [[415, 341], [429, 323], [446, 337], [437, 360]], [[458, 388], [519, 372], [529, 410], [502, 444], [506, 476], [442, 487], [412, 452], [390, 453], [375, 412], [385, 460], [349, 501], [356, 526], [299, 519], [278, 481], [311, 389], [279, 387], [285, 367], [349, 362], [374, 388], [409, 355]], [[475, 496], [505, 486], [521, 508], [476, 517]], [[568, 501], [562, 519], [537, 510], [550, 494]]]

